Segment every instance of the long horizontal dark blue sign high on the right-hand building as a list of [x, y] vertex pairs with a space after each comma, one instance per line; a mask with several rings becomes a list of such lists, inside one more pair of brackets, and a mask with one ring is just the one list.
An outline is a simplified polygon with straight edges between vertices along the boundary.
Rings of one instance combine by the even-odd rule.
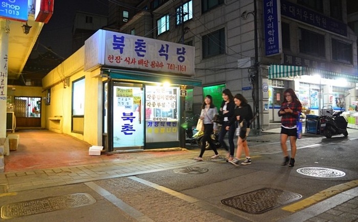
[[281, 1], [281, 14], [312, 26], [347, 36], [347, 25], [299, 5]]

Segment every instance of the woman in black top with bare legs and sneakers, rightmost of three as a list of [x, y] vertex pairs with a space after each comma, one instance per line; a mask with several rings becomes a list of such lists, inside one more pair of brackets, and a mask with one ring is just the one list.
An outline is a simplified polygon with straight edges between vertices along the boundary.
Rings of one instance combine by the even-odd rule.
[[[246, 155], [246, 159], [244, 162], [241, 163], [241, 165], [248, 165], [251, 164], [251, 158], [248, 141], [246, 140], [246, 138], [249, 135], [250, 122], [253, 118], [252, 108], [248, 104], [248, 101], [241, 94], [235, 95], [234, 102], [236, 104], [236, 108], [234, 112], [234, 118], [230, 120], [230, 123], [237, 121], [238, 126], [240, 127], [237, 127], [236, 131], [236, 135], [238, 136], [236, 157], [229, 162], [234, 164], [235, 166], [238, 166], [240, 162], [239, 159], [241, 156], [241, 152], [243, 149]], [[231, 128], [232, 126], [229, 127]], [[227, 129], [229, 129], [228, 126]]]

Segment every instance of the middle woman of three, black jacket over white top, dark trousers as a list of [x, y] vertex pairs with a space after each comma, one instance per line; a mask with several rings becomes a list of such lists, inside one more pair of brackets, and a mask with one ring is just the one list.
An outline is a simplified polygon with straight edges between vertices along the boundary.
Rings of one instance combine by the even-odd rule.
[[[235, 104], [234, 104], [234, 96], [232, 95], [232, 93], [228, 88], [222, 91], [222, 99], [223, 100], [220, 106], [219, 115], [222, 116], [223, 122], [221, 123], [222, 126], [219, 132], [218, 141], [220, 145], [227, 151], [226, 154], [227, 161], [231, 161], [234, 158], [234, 152], [235, 152], [235, 144], [234, 144], [235, 127], [234, 126], [230, 127], [229, 131], [226, 130], [226, 127], [231, 126], [229, 125], [229, 123], [230, 123], [230, 119], [234, 115]], [[229, 147], [224, 141], [227, 132], [228, 132], [228, 139], [229, 139]]]

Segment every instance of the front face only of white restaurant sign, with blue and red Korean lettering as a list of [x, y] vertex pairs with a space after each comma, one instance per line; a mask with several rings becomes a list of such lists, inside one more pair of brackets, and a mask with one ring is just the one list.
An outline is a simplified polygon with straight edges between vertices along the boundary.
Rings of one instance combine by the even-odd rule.
[[111, 31], [105, 39], [106, 65], [194, 74], [194, 47]]

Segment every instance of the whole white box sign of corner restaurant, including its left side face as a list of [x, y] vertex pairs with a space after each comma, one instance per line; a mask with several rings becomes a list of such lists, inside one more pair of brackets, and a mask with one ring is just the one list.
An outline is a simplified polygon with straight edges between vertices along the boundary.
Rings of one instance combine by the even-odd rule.
[[146, 72], [194, 75], [192, 46], [107, 30], [99, 31], [102, 34], [95, 33], [93, 38], [90, 37], [85, 42], [85, 70], [92, 69], [97, 63]]

